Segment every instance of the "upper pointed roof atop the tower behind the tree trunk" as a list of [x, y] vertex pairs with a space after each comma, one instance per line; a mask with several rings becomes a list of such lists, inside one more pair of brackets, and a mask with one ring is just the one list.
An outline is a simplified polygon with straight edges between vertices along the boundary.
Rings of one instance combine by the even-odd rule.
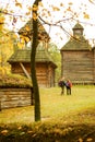
[[[32, 39], [32, 35], [33, 35], [33, 20], [29, 20], [20, 31], [19, 31], [20, 35], [23, 36], [27, 36], [28, 38]], [[49, 39], [49, 35], [46, 32], [46, 29], [44, 28], [44, 26], [41, 25], [41, 23], [38, 21], [38, 39]]]

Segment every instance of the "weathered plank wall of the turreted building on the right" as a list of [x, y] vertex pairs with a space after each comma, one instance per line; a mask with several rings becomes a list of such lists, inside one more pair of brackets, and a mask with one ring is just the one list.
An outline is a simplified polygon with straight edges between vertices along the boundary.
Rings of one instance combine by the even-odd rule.
[[73, 83], [93, 83], [93, 51], [63, 51], [61, 68], [62, 75]]

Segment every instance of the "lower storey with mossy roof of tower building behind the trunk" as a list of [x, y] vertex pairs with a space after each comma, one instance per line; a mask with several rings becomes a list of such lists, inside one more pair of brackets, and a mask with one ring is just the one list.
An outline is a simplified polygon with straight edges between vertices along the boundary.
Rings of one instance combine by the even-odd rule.
[[[11, 72], [31, 76], [31, 49], [19, 49], [8, 60], [11, 64]], [[36, 52], [36, 75], [39, 86], [55, 86], [56, 63], [45, 47], [37, 47]]]

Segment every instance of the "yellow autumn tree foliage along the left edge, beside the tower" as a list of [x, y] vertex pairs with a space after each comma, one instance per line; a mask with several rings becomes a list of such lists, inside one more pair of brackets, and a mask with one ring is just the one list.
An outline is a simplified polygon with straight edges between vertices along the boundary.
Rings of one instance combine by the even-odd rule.
[[5, 28], [4, 14], [0, 10], [0, 74], [10, 72], [10, 66], [7, 62], [9, 57], [13, 54], [14, 40], [16, 35]]

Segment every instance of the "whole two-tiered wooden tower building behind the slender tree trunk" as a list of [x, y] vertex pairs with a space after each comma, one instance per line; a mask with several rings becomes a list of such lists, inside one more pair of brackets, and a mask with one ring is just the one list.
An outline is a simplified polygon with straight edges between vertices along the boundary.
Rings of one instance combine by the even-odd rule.
[[[28, 37], [32, 42], [33, 36], [33, 20], [28, 21], [20, 31], [20, 37]], [[55, 69], [56, 63], [52, 61], [47, 45], [50, 37], [45, 31], [43, 24], [38, 21], [38, 40], [39, 45], [36, 52], [36, 75], [39, 86], [51, 87], [55, 86]], [[40, 46], [41, 45], [41, 46]], [[12, 73], [31, 76], [31, 49], [26, 48], [25, 42], [23, 49], [17, 49], [10, 57], [8, 62], [11, 64]]]

